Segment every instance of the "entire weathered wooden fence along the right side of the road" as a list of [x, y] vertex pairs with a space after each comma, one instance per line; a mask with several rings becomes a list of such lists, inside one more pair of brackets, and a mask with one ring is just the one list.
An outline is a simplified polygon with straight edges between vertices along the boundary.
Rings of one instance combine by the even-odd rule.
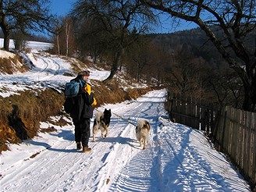
[[176, 123], [204, 130], [256, 191], [256, 113], [226, 106], [217, 110], [193, 98], [169, 96], [169, 116]]

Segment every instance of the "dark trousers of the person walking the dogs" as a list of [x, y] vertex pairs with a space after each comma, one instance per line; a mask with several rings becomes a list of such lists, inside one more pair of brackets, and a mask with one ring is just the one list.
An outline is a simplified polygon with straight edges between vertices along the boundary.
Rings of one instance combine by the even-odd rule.
[[82, 142], [83, 147], [88, 147], [90, 131], [90, 119], [81, 119], [80, 123], [75, 124], [76, 143]]

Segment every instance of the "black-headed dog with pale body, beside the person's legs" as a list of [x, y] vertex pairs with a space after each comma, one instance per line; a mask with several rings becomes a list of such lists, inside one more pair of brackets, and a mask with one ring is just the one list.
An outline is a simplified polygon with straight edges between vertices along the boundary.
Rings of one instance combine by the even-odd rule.
[[111, 109], [107, 110], [105, 108], [104, 112], [97, 112], [95, 114], [94, 126], [93, 126], [93, 141], [95, 141], [95, 136], [98, 130], [101, 130], [101, 136], [103, 138], [108, 136], [108, 126], [110, 123]]

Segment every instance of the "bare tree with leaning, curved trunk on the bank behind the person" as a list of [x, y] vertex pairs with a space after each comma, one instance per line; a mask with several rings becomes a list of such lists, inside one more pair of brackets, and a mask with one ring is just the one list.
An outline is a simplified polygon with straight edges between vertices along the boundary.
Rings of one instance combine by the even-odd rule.
[[137, 40], [137, 34], [148, 29], [148, 20], [153, 18], [153, 14], [137, 0], [79, 0], [75, 4], [72, 15], [80, 18], [79, 20], [90, 18], [100, 22], [104, 26], [105, 33], [110, 34], [113, 53], [112, 69], [104, 82], [112, 80], [123, 52]]

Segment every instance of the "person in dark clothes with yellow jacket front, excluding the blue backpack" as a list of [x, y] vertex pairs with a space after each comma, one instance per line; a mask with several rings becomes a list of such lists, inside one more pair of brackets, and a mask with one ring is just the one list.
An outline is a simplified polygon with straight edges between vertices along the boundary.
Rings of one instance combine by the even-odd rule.
[[84, 70], [77, 73], [76, 78], [73, 79], [80, 83], [80, 94], [76, 97], [73, 111], [70, 112], [75, 126], [76, 149], [82, 149], [83, 152], [91, 151], [91, 148], [88, 147], [91, 134], [90, 123], [94, 106], [97, 105], [94, 93], [91, 92], [91, 85], [87, 83], [89, 76], [90, 71]]

